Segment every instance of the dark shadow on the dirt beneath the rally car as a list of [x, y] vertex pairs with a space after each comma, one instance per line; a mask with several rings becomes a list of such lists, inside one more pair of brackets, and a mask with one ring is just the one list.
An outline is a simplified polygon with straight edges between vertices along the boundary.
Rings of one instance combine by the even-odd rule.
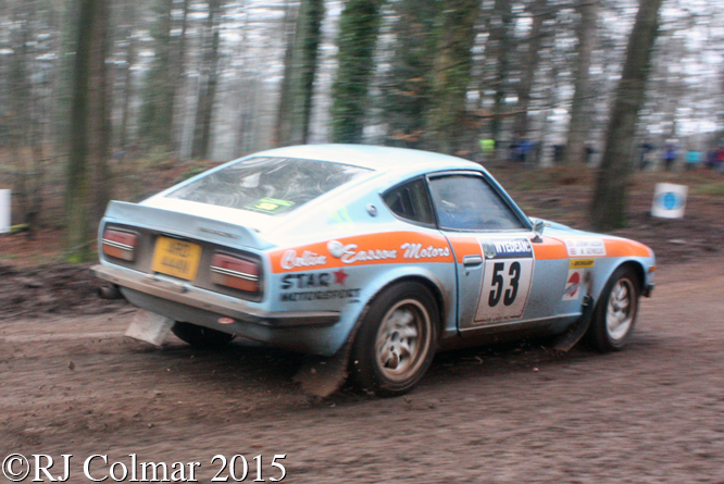
[[[569, 352], [552, 349], [554, 338], [535, 338], [490, 346], [447, 350], [438, 353], [421, 382], [424, 392], [438, 392], [450, 385], [479, 378], [519, 378], [530, 372], [554, 373], [561, 368], [587, 364], [606, 356], [590, 349], [585, 342]], [[660, 346], [653, 333], [635, 333], [622, 352], [625, 358]], [[348, 406], [376, 400], [372, 394], [358, 389], [348, 377], [333, 395], [321, 398], [305, 395], [295, 375], [304, 364], [304, 356], [265, 348], [246, 342], [233, 342], [224, 348], [201, 350], [175, 338], [161, 349], [137, 344], [130, 352], [145, 353], [148, 371], [167, 371], [182, 380], [189, 390], [204, 395], [239, 398], [240, 408], [289, 408]], [[182, 376], [178, 376], [182, 375]], [[541, 374], [541, 377], [547, 377]], [[413, 390], [411, 395], [417, 390]], [[285, 398], [278, 398], [279, 396]], [[290, 398], [291, 397], [291, 398]], [[263, 400], [261, 401], [260, 400]], [[405, 398], [404, 396], [401, 398]]]

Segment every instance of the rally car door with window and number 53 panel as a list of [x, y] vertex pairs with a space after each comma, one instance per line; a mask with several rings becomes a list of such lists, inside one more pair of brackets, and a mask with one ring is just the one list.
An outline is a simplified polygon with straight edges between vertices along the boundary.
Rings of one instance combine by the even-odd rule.
[[536, 277], [533, 240], [539, 239], [497, 184], [483, 173], [452, 172], [428, 176], [428, 186], [438, 227], [455, 256], [459, 327], [553, 317], [565, 272]]

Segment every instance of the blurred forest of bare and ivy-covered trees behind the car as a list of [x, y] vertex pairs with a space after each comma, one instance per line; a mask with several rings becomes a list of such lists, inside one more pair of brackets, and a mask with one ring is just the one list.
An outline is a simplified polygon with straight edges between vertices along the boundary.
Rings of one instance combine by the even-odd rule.
[[641, 160], [722, 139], [722, 3], [0, 0], [0, 188], [82, 261], [111, 198], [365, 142], [560, 165], [590, 183], [590, 226], [622, 227]]

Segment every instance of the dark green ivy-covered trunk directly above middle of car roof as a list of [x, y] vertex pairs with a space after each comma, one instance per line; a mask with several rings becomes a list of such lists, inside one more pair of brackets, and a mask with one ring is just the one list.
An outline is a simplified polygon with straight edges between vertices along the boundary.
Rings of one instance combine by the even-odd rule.
[[360, 142], [383, 0], [348, 0], [339, 20], [337, 78], [332, 86], [332, 138]]

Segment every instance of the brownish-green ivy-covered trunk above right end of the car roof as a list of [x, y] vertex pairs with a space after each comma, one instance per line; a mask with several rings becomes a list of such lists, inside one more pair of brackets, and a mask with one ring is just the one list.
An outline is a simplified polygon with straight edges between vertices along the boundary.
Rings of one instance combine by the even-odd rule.
[[433, 67], [433, 107], [427, 116], [426, 144], [444, 153], [452, 154], [462, 148], [465, 99], [479, 9], [479, 0], [450, 0], [442, 11]]

